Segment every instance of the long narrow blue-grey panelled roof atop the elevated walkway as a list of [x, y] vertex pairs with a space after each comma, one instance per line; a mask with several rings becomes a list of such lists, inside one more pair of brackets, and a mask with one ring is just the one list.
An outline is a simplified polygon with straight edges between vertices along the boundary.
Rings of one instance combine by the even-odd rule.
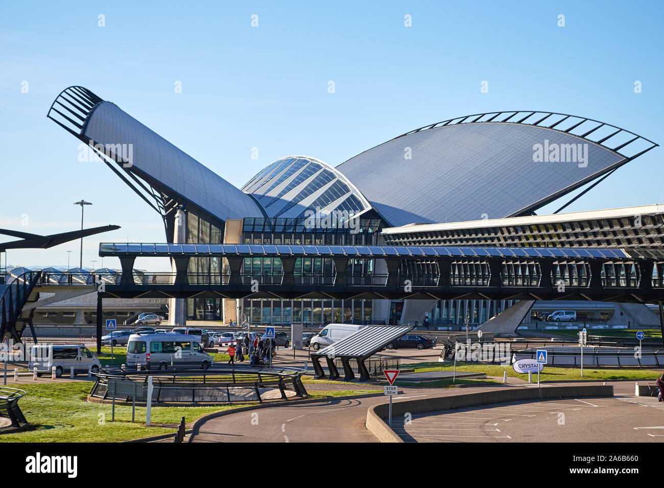
[[99, 246], [100, 256], [349, 256], [357, 258], [625, 259], [620, 248], [497, 248], [479, 246], [294, 246], [285, 244], [122, 244]]

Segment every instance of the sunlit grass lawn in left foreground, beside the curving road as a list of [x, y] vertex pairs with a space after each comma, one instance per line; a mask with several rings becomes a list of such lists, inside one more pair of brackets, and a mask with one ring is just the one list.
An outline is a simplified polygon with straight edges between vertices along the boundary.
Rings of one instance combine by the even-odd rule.
[[[110, 349], [110, 348], [109, 348]], [[19, 405], [35, 430], [3, 434], [0, 442], [118, 442], [161, 434], [175, 434], [175, 428], [146, 427], [145, 407], [136, 407], [131, 423], [131, 406], [116, 405], [116, 421], [111, 422], [111, 405], [86, 402], [92, 382], [19, 384], [28, 392]], [[153, 424], [176, 424], [256, 403], [230, 406], [153, 407]]]

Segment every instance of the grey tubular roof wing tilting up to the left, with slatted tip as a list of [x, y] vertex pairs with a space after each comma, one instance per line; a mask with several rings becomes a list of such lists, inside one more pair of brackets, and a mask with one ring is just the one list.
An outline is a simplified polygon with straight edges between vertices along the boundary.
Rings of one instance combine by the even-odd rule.
[[[48, 118], [82, 141], [101, 145], [104, 153], [125, 173], [139, 177], [157, 191], [152, 196], [163, 210], [165, 202], [162, 204], [161, 200], [180, 198], [222, 221], [265, 216], [252, 197], [123, 112], [116, 104], [102, 100], [86, 88], [72, 86], [63, 90], [53, 102]], [[128, 161], [129, 155], [131, 161]], [[114, 171], [133, 185], [116, 167]]]

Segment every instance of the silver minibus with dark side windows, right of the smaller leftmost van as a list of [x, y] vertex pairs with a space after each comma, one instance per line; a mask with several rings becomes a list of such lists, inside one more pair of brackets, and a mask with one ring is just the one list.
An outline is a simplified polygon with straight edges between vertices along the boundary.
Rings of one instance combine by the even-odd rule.
[[127, 366], [141, 365], [147, 369], [169, 366], [195, 366], [207, 369], [212, 356], [203, 351], [201, 337], [177, 332], [165, 334], [132, 334], [127, 343]]

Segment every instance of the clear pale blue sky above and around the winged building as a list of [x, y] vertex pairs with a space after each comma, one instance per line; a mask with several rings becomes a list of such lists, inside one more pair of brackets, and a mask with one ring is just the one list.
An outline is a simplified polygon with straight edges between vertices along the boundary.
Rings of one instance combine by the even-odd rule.
[[[75, 84], [238, 186], [286, 155], [338, 165], [410, 129], [498, 110], [582, 115], [663, 143], [663, 5], [3, 2], [0, 228], [75, 230], [80, 207], [72, 203], [86, 199], [94, 203], [86, 226], [122, 229], [86, 240], [84, 266], [92, 259], [100, 266], [100, 240], [165, 240], [158, 214], [101, 163], [78, 162], [78, 139], [46, 119], [57, 94]], [[106, 27], [98, 27], [100, 14]], [[254, 14], [258, 27], [250, 25]], [[480, 92], [483, 80], [489, 93]], [[567, 210], [664, 202], [662, 150], [619, 169]], [[78, 243], [11, 251], [8, 260], [64, 266], [66, 250], [73, 266]]]

